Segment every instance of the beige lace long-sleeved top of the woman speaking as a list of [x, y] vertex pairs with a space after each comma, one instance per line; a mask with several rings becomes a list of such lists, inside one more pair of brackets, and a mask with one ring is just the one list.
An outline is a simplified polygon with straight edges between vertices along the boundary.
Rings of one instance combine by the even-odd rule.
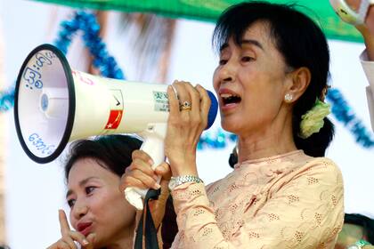
[[172, 248], [333, 248], [343, 225], [337, 165], [302, 150], [246, 161], [207, 188], [184, 183], [172, 196]]

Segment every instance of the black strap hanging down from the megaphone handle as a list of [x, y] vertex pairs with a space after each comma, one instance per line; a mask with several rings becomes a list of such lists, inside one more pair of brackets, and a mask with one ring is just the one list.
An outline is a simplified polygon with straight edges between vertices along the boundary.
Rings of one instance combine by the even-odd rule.
[[[160, 193], [161, 193], [161, 189], [158, 189], [158, 190], [150, 189], [145, 195], [144, 208], [142, 210], [142, 218], [139, 221], [138, 228], [136, 229], [134, 249], [143, 249], [142, 248], [143, 235], [145, 237], [145, 249], [159, 249], [159, 242], [157, 240], [157, 229], [155, 227], [155, 223], [153, 222], [152, 215], [150, 214], [149, 201], [157, 200], [159, 198]], [[145, 222], [144, 222], [144, 219], [145, 219]]]

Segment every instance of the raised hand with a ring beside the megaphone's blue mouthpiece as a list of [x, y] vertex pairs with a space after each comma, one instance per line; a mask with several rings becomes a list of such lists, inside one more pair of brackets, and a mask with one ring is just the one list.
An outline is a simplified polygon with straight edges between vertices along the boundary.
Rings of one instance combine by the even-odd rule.
[[[175, 96], [175, 91], [179, 100]], [[178, 82], [167, 88], [170, 114], [167, 121], [165, 155], [173, 175], [197, 175], [196, 149], [207, 127], [210, 98], [199, 84]]]

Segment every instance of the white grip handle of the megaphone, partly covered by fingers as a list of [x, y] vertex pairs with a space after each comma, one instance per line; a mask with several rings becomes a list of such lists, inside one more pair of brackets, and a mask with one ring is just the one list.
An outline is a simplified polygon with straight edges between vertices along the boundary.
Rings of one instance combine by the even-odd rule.
[[[158, 136], [149, 136], [144, 138], [142, 142], [142, 148], [152, 158], [154, 164], [152, 169], [154, 170], [158, 165], [160, 165], [165, 160], [164, 153], [164, 141], [161, 140]], [[161, 181], [161, 178], [158, 178], [158, 183]], [[142, 199], [147, 194], [148, 189], [139, 189], [134, 187], [128, 187], [125, 189], [126, 200], [137, 210], [142, 210]]]

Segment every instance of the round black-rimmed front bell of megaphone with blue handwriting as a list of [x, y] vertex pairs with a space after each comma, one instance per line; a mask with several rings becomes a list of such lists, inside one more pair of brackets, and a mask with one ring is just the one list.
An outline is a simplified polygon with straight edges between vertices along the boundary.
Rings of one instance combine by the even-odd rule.
[[22, 149], [39, 164], [53, 161], [69, 142], [75, 90], [64, 54], [42, 44], [28, 54], [17, 77], [14, 120]]

